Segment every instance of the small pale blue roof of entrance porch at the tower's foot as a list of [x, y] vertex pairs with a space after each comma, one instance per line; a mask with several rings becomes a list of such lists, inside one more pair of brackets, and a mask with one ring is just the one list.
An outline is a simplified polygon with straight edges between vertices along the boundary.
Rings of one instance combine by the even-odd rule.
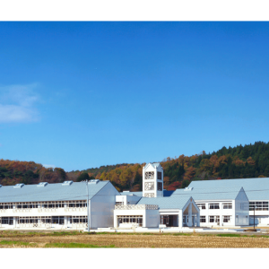
[[175, 195], [170, 197], [156, 197], [156, 198], [147, 198], [143, 197], [137, 204], [157, 204], [159, 209], [178, 209], [182, 210], [189, 199], [190, 195]]

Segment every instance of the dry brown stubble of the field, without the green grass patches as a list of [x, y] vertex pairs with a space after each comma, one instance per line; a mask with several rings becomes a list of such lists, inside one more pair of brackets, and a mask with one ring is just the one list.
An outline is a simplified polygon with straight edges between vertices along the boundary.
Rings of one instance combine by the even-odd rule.
[[0, 241], [23, 241], [35, 243], [30, 246], [4, 245], [0, 248], [38, 248], [48, 243], [83, 243], [97, 246], [110, 246], [120, 248], [269, 248], [267, 238], [220, 238], [216, 236], [173, 236], [173, 235], [114, 235], [96, 234], [80, 236], [51, 237], [46, 235], [24, 236], [18, 238], [1, 238]]

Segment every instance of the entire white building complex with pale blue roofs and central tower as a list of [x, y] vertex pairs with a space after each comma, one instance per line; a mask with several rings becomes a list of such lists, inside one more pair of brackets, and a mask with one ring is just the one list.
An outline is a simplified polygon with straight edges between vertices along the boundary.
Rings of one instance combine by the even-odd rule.
[[88, 185], [66, 181], [0, 186], [0, 228], [82, 230], [87, 227], [87, 208], [91, 229], [244, 226], [252, 213], [247, 196], [251, 208], [258, 206], [258, 221], [268, 221], [269, 179], [239, 180], [194, 181], [186, 189], [169, 192], [163, 189], [160, 163], [148, 163], [143, 168], [143, 192], [119, 194], [109, 181], [98, 179]]

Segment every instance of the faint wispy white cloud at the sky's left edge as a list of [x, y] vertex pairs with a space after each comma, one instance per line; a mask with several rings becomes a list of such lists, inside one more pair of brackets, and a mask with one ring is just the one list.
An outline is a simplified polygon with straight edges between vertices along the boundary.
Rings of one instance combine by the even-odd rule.
[[38, 84], [0, 87], [0, 123], [32, 122], [39, 119], [34, 107]]

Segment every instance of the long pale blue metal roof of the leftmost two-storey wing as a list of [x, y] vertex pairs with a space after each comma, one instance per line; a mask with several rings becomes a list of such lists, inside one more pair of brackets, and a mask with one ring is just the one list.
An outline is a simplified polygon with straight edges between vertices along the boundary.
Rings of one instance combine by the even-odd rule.
[[[109, 181], [100, 181], [98, 184], [89, 184], [89, 199], [97, 195]], [[70, 186], [62, 183], [48, 184], [46, 187], [25, 185], [22, 188], [3, 186], [0, 188], [0, 203], [43, 202], [43, 201], [73, 201], [87, 200], [87, 187], [85, 182], [74, 182]]]

